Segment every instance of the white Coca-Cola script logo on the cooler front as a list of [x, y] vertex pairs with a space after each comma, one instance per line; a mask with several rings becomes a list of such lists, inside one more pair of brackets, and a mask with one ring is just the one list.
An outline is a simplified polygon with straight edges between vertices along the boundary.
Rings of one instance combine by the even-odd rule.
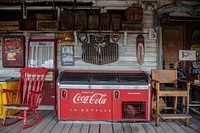
[[77, 93], [74, 95], [73, 102], [75, 104], [105, 104], [107, 94], [93, 93], [93, 94], [83, 94]]

